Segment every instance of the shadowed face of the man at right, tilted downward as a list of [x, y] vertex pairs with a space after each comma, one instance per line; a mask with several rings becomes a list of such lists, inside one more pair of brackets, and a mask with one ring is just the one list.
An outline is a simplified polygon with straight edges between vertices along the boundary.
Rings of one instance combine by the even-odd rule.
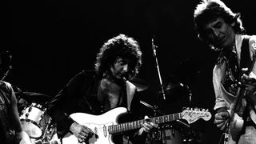
[[226, 23], [223, 18], [217, 18], [209, 22], [204, 27], [206, 40], [218, 48], [233, 46], [235, 33], [232, 26], [234, 26], [234, 23]]

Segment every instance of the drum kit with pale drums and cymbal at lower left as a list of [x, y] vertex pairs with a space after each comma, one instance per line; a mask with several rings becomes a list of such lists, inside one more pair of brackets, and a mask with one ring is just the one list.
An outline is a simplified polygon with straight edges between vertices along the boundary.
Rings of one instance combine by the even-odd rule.
[[60, 143], [56, 124], [46, 114], [46, 105], [50, 96], [34, 92], [22, 92], [17, 86], [13, 86], [17, 97], [19, 118], [22, 130], [30, 136], [34, 144], [58, 144]]

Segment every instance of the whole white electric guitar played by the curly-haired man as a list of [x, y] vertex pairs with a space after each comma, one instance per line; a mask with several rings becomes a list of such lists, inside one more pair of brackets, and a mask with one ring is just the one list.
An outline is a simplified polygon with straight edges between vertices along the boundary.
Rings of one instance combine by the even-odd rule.
[[[128, 130], [139, 129], [142, 127], [142, 123], [144, 122], [150, 121], [156, 124], [161, 124], [178, 119], [186, 119], [186, 121], [190, 124], [197, 121], [199, 118], [202, 118], [205, 121], [208, 121], [211, 118], [211, 114], [208, 110], [192, 110], [190, 108], [186, 108], [181, 113], [177, 114], [168, 114], [159, 117], [118, 124], [118, 117], [121, 114], [125, 114], [126, 112], [126, 108], [118, 107], [102, 115], [74, 113], [70, 114], [70, 118], [74, 119], [75, 122], [78, 122], [83, 126], [87, 126], [90, 128], [90, 130], [94, 131], [94, 135], [87, 142], [90, 144], [113, 144], [111, 138], [112, 134], [120, 134]], [[76, 138], [74, 134], [68, 133], [62, 138], [62, 143], [77, 144], [78, 138]]]

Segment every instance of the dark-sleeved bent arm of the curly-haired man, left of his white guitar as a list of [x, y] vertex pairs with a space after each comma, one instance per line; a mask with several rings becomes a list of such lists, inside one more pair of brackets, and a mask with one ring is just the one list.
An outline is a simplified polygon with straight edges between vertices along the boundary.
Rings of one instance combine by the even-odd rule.
[[[78, 90], [84, 80], [85, 74], [76, 74], [70, 79], [70, 82], [58, 92], [58, 94], [50, 101], [46, 113], [57, 123], [58, 137], [63, 137], [70, 131], [70, 126], [74, 120], [69, 117], [70, 111], [74, 109], [77, 102]], [[67, 112], [66, 110], [70, 110]]]

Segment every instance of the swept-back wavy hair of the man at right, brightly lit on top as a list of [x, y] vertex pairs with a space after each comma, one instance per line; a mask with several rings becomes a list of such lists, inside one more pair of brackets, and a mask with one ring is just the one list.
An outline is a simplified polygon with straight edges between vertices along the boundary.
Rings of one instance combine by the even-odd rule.
[[223, 18], [225, 22], [231, 24], [235, 22], [233, 29], [237, 34], [245, 34], [246, 30], [242, 26], [240, 14], [235, 14], [220, 0], [202, 0], [194, 10], [194, 26], [198, 33], [198, 38], [206, 40], [203, 27], [217, 18]]

